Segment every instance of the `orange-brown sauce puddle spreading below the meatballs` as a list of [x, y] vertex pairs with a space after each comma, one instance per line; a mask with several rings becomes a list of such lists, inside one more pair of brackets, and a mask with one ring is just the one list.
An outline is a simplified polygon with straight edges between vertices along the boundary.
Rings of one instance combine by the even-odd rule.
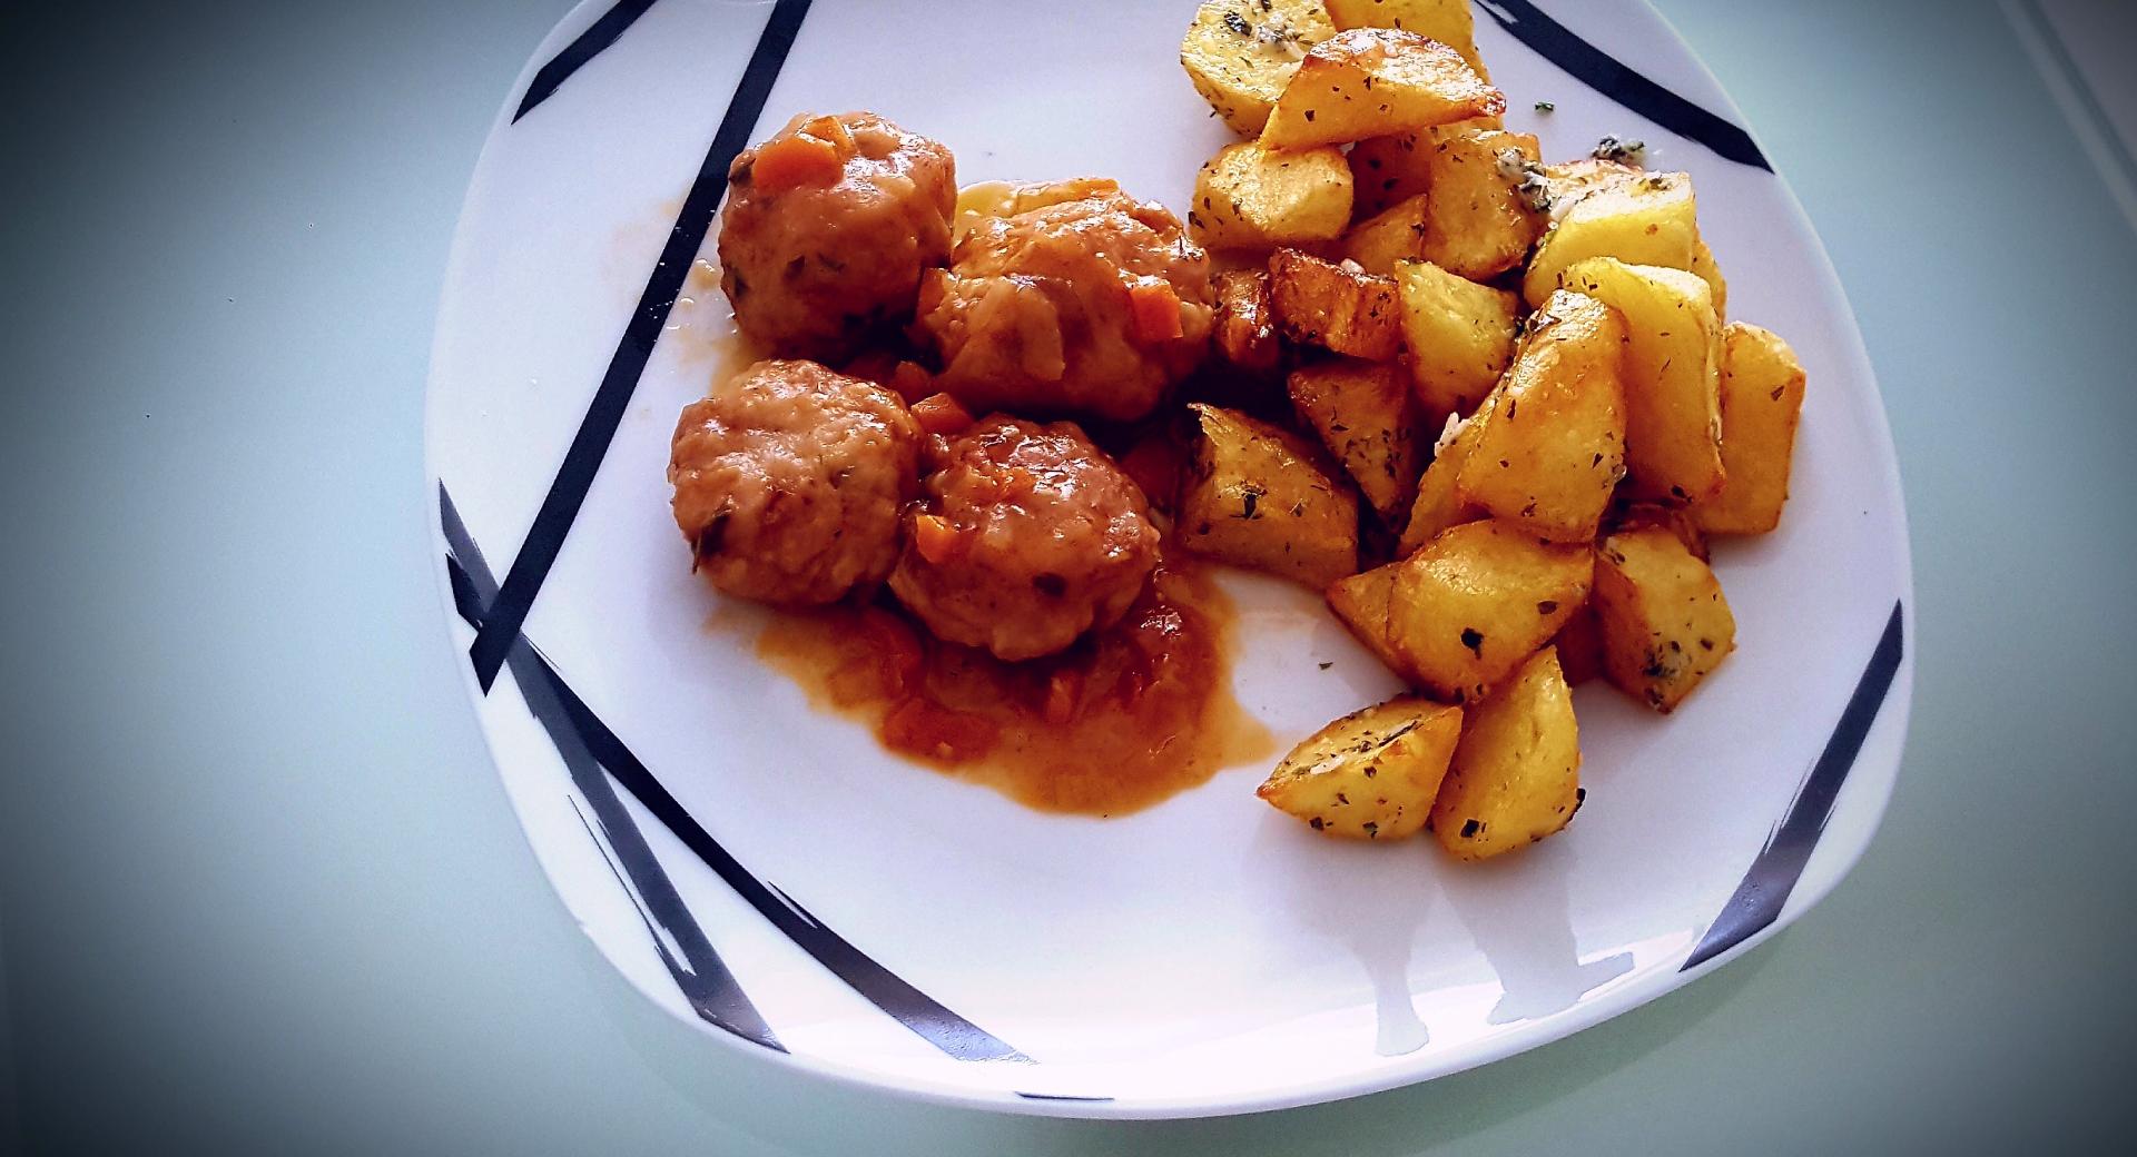
[[1274, 754], [1231, 696], [1231, 600], [1167, 561], [1120, 623], [1004, 664], [887, 606], [778, 615], [756, 653], [915, 762], [1041, 811], [1120, 815]]

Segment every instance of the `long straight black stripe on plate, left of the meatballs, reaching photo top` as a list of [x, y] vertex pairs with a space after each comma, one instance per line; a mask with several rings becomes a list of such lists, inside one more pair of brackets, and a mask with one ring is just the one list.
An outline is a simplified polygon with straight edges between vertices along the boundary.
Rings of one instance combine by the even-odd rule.
[[541, 510], [534, 512], [526, 542], [519, 544], [519, 555], [513, 557], [513, 566], [504, 574], [504, 587], [489, 602], [483, 625], [474, 632], [468, 657], [474, 662], [474, 681], [485, 694], [496, 683], [498, 668], [504, 666], [504, 653], [519, 638], [519, 628], [534, 606], [534, 596], [541, 593], [541, 585], [549, 576], [549, 566], [556, 564], [556, 553], [564, 546], [564, 536], [571, 534], [573, 519], [579, 517], [579, 506], [586, 502], [588, 487], [594, 485], [594, 474], [600, 472], [600, 459], [607, 457], [609, 442], [615, 440], [615, 427], [624, 421], [624, 410], [630, 406], [630, 395], [639, 389], [639, 374], [645, 371], [654, 342], [660, 339], [660, 327], [667, 324], [669, 310], [673, 310], [675, 297], [682, 292], [682, 280], [690, 271], [690, 260], [703, 248], [705, 233], [712, 228], [712, 213], [720, 209], [720, 199], [727, 194], [727, 167], [748, 145], [750, 130], [756, 128], [756, 117], [765, 111], [765, 98], [771, 94], [771, 81], [778, 79], [780, 66], [786, 64], [786, 49], [793, 47], [795, 34], [801, 32], [801, 17], [806, 15], [808, 0], [778, 0], [771, 17], [765, 21], [765, 30], [756, 36], [756, 51], [750, 53], [750, 64], [742, 70], [742, 81], [735, 83], [735, 96], [720, 117], [720, 130], [714, 132], [712, 147], [705, 149], [705, 162], [699, 164], [697, 179], [690, 181], [690, 194], [684, 196], [675, 226], [660, 250], [660, 263], [654, 265], [652, 275], [645, 280], [645, 292], [639, 295], [639, 307], [624, 327], [624, 339], [615, 346], [615, 354], [609, 356], [609, 369], [600, 378], [600, 389], [594, 391], [594, 401], [586, 408], [586, 418], [579, 421], [579, 433], [573, 435], [571, 448], [564, 453], [564, 465], [558, 467], [556, 478], [549, 482], [549, 493], [541, 502]]

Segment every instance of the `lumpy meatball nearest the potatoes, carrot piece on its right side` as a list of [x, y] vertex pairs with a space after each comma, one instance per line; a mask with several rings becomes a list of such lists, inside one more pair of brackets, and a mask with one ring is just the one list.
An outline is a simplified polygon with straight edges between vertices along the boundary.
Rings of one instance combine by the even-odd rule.
[[1201, 363], [1212, 301], [1180, 220], [1101, 190], [977, 220], [951, 267], [921, 278], [915, 329], [974, 412], [1128, 421]]

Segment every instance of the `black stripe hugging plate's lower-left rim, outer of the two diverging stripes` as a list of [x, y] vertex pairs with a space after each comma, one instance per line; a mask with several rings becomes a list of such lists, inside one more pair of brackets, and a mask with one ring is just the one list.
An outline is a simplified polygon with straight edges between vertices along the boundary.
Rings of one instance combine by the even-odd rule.
[[[492, 578], [489, 564], [483, 561], [474, 538], [468, 536], [468, 525], [459, 519], [459, 510], [453, 508], [453, 497], [444, 493], [442, 482], [438, 485], [438, 525], [444, 529], [449, 549], [447, 568], [453, 578], [453, 606], [468, 625], [479, 625], [483, 604], [498, 593], [496, 578]], [[705, 939], [705, 931], [697, 926], [697, 918], [690, 916], [690, 907], [675, 892], [675, 884], [667, 877], [667, 871], [660, 869], [654, 850], [645, 845], [645, 835], [639, 833], [630, 811], [624, 809], [624, 801], [615, 796], [609, 777], [600, 773], [594, 751], [588, 749], [586, 739], [571, 726], [564, 704], [549, 690], [549, 681], [543, 679], [549, 670], [547, 660], [530, 643], [517, 640], [506, 662], [513, 668], [513, 681], [519, 683], [519, 694], [526, 698], [528, 711], [549, 732], [549, 743], [564, 758], [573, 786], [579, 788], [579, 796], [594, 809], [592, 822], [588, 822], [583, 811], [579, 813], [579, 822], [588, 826], [590, 837], [596, 826], [600, 828], [594, 845], [603, 847], [603, 839], [607, 841], [600, 854], [609, 862], [609, 871], [618, 875], [618, 882], [628, 879], [624, 892], [633, 897], [633, 905], [637, 905], [639, 918], [645, 920], [645, 931], [654, 939], [654, 950], [660, 952], [660, 961], [667, 965], [669, 976], [675, 978], [675, 986], [682, 988], [684, 999], [690, 1001], [690, 1008], [699, 1016], [737, 1037], [784, 1052], [786, 1048], [771, 1033], [771, 1027], [765, 1025], [756, 1005], [750, 1003], [735, 973], [727, 969], [727, 963], [714, 952], [712, 941]], [[609, 850], [613, 850], [613, 856]], [[660, 931], [682, 950], [682, 961], [669, 954]]]

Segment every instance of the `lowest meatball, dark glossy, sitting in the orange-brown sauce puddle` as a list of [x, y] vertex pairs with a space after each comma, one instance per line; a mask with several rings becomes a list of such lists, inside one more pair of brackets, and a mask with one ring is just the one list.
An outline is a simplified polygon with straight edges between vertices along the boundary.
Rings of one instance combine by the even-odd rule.
[[1075, 423], [996, 414], [940, 459], [891, 572], [938, 638], [1051, 655], [1118, 621], [1158, 564], [1143, 491]]

